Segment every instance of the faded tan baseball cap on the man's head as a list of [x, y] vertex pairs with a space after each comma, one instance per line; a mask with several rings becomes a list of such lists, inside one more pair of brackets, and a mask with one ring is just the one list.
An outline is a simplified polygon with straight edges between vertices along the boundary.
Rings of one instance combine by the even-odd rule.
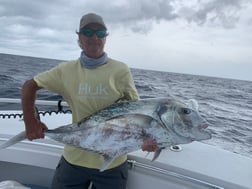
[[80, 20], [80, 28], [79, 31], [84, 28], [85, 26], [87, 26], [88, 24], [91, 23], [95, 23], [95, 24], [100, 24], [101, 26], [103, 26], [105, 29], [107, 29], [103, 19], [101, 16], [95, 14], [95, 13], [88, 13], [84, 16], [82, 16], [81, 20]]

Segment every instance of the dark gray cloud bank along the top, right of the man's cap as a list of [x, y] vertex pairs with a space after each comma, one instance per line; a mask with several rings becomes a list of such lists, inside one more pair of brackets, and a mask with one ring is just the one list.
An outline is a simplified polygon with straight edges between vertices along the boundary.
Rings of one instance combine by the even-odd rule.
[[[234, 28], [239, 21], [240, 12], [251, 5], [249, 0], [127, 0], [109, 3], [93, 10], [104, 15], [111, 24], [126, 26], [134, 32], [146, 33], [154, 22], [185, 20], [199, 26]], [[95, 9], [96, 7], [96, 9]]]

